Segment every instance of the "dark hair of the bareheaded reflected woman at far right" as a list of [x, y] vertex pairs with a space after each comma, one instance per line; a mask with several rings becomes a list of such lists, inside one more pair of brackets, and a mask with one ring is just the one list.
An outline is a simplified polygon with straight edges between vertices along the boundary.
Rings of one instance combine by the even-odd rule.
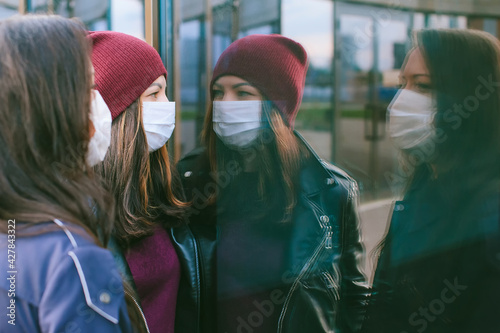
[[[500, 89], [494, 87], [470, 112], [464, 106], [476, 96], [482, 80], [500, 84], [500, 41], [481, 31], [442, 29], [417, 32], [415, 44], [431, 73], [436, 129], [447, 138], [436, 143], [438, 155], [432, 163], [438, 178], [449, 174], [452, 184], [460, 180], [464, 190], [477, 191], [499, 176]], [[454, 127], [445, 114], [455, 105], [461, 105], [467, 117]]]

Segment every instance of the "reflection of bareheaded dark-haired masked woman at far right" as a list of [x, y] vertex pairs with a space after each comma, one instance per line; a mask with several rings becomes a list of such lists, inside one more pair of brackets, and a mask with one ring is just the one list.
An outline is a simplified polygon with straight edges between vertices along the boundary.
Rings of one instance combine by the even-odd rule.
[[404, 182], [374, 279], [366, 332], [492, 332], [500, 325], [500, 43], [423, 30], [389, 130]]

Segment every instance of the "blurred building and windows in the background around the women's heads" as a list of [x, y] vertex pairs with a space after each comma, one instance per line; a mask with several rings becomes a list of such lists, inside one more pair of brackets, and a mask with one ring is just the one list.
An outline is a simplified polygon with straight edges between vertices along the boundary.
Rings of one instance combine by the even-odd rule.
[[309, 73], [296, 129], [319, 155], [358, 181], [363, 202], [392, 197], [397, 154], [385, 133], [398, 73], [422, 28], [473, 28], [500, 36], [496, 0], [0, 0], [0, 19], [53, 12], [91, 30], [142, 38], [168, 68], [178, 104], [171, 152], [198, 145], [207, 82], [235, 39], [280, 33], [302, 43]]

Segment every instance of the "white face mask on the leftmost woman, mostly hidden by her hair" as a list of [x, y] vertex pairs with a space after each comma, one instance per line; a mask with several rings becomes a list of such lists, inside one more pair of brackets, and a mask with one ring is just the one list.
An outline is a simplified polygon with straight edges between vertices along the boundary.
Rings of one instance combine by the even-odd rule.
[[97, 90], [95, 90], [95, 98], [91, 105], [90, 120], [94, 125], [95, 133], [90, 138], [86, 158], [87, 164], [94, 166], [104, 161], [111, 143], [111, 111]]

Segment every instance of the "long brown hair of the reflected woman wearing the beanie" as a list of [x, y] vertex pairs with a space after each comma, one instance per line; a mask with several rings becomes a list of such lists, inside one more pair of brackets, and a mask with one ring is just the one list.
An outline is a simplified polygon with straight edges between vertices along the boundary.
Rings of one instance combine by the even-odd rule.
[[[266, 98], [263, 97], [265, 100]], [[300, 145], [293, 130], [287, 126], [281, 113], [272, 102], [263, 103], [263, 122], [269, 124], [269, 128], [263, 128], [257, 144], [258, 149], [257, 170], [259, 173], [258, 193], [266, 200], [270, 193], [280, 189], [285, 196], [282, 221], [289, 221], [293, 208], [297, 202], [296, 182], [302, 159], [307, 155], [307, 150]], [[246, 154], [247, 151], [232, 151], [220, 143], [217, 134], [213, 130], [212, 122], [213, 105], [210, 105], [205, 116], [202, 131], [202, 142], [206, 147], [210, 171], [225, 170], [226, 164], [238, 159], [238, 154]], [[256, 153], [253, 151], [253, 153]], [[217, 197], [214, 191], [208, 197], [208, 203], [214, 204]]]

